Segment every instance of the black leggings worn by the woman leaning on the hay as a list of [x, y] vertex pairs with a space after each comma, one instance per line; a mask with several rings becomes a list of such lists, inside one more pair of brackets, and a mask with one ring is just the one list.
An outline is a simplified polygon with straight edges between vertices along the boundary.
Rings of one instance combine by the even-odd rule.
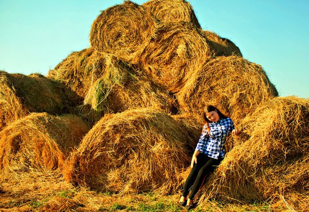
[[212, 173], [215, 168], [219, 166], [221, 161], [222, 158], [214, 159], [203, 153], [198, 154], [197, 163], [194, 164], [189, 176], [187, 177], [184, 186], [183, 197], [188, 196], [192, 187], [189, 199], [193, 200], [198, 189], [200, 189], [206, 175]]

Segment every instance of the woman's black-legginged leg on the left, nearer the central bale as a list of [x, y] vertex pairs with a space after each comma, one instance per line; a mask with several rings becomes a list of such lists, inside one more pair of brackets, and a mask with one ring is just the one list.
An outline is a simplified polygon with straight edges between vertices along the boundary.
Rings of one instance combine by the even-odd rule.
[[194, 181], [196, 180], [196, 177], [200, 170], [205, 166], [207, 163], [209, 157], [207, 157], [205, 154], [200, 153], [197, 155], [197, 163], [194, 164], [193, 168], [191, 169], [190, 174], [187, 177], [187, 180], [184, 185], [183, 190], [183, 197], [187, 197], [189, 194], [189, 191], [191, 189], [191, 186], [193, 185]]

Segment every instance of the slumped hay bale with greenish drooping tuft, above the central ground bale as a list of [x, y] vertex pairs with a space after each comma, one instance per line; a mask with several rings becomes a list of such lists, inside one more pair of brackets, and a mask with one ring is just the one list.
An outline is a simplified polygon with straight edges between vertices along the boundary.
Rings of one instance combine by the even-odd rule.
[[84, 98], [73, 112], [94, 124], [105, 113], [140, 107], [157, 107], [176, 113], [175, 98], [163, 88], [141, 76], [135, 65], [111, 54], [93, 49], [74, 52], [49, 73]]

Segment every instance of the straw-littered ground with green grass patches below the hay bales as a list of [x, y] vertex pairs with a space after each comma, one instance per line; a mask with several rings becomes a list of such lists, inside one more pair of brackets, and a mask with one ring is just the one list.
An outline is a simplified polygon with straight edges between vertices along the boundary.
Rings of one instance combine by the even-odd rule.
[[[0, 183], [0, 211], [187, 211], [177, 204], [180, 194], [151, 192], [120, 195], [74, 187], [52, 172], [19, 173]], [[290, 211], [267, 203], [227, 204], [208, 201], [190, 211]]]

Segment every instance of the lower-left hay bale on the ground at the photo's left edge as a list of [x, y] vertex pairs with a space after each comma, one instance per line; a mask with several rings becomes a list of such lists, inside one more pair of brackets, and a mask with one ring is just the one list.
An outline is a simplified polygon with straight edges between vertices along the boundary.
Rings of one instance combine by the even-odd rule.
[[6, 172], [62, 169], [65, 158], [88, 130], [74, 115], [31, 113], [0, 132], [0, 168]]

